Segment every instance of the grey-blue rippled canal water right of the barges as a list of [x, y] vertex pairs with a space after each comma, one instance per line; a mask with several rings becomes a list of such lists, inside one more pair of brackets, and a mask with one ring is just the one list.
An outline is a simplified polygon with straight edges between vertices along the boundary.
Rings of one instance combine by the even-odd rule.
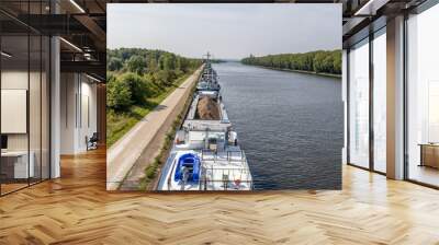
[[215, 63], [256, 189], [341, 188], [341, 80]]

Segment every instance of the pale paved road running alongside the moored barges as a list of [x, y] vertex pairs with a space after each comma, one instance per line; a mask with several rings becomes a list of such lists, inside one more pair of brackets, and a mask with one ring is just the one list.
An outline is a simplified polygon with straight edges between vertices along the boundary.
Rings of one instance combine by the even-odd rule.
[[[158, 154], [160, 142], [182, 109], [200, 72], [201, 68], [108, 150], [108, 190], [116, 190], [128, 173], [126, 180], [143, 177], [145, 167]], [[139, 158], [142, 161], [138, 161]]]

